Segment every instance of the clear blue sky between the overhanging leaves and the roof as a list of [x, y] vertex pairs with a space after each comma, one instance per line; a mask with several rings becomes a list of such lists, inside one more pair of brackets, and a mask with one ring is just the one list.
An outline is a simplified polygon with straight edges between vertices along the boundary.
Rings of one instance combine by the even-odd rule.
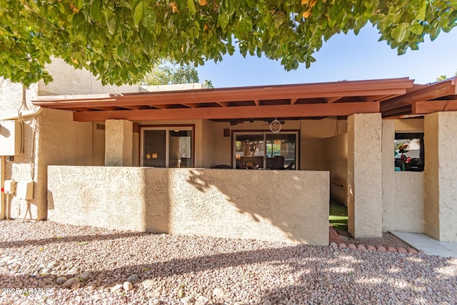
[[217, 64], [208, 61], [200, 66], [199, 79], [211, 80], [215, 88], [395, 77], [427, 84], [441, 74], [451, 77], [457, 71], [457, 29], [441, 32], [435, 41], [426, 36], [417, 51], [408, 50], [401, 56], [385, 41], [378, 41], [379, 37], [370, 24], [358, 36], [352, 32], [335, 35], [314, 54], [316, 62], [309, 69], [303, 64], [295, 71], [285, 71], [278, 61], [265, 57], [244, 59], [236, 53]]

